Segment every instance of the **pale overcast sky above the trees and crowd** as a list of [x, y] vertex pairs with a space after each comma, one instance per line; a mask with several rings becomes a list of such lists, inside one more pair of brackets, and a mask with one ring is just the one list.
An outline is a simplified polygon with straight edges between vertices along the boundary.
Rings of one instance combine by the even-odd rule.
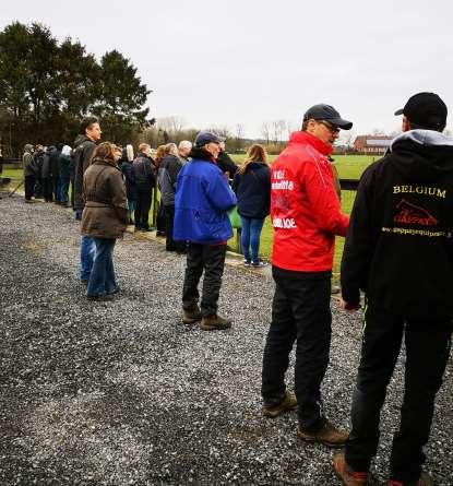
[[98, 57], [118, 49], [156, 118], [259, 137], [263, 121], [299, 128], [327, 103], [359, 134], [397, 130], [393, 112], [420, 91], [453, 111], [452, 14], [449, 0], [13, 0], [0, 27], [38, 21]]

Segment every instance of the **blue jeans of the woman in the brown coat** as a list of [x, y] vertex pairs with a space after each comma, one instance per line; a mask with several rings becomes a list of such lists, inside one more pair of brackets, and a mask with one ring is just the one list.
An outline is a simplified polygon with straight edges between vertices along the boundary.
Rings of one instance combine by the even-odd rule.
[[112, 259], [116, 239], [93, 238], [93, 240], [96, 245], [96, 257], [90, 275], [87, 295], [111, 294], [118, 288]]

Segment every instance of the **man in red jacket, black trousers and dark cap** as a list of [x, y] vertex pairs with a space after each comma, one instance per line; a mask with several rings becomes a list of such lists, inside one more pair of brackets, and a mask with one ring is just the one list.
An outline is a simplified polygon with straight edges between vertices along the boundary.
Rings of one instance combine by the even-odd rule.
[[[299, 405], [298, 436], [330, 447], [348, 437], [325, 418], [320, 387], [331, 344], [335, 235], [346, 235], [349, 218], [341, 211], [329, 155], [339, 130], [351, 127], [332, 106], [312, 106], [271, 175], [275, 295], [263, 357], [263, 415], [276, 417]], [[285, 386], [295, 341], [296, 396]]]

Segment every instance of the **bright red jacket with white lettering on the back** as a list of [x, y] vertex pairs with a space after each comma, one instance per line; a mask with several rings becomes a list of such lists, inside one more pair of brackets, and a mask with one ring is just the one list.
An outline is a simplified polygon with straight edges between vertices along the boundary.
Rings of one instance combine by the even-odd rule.
[[349, 217], [341, 211], [327, 155], [331, 145], [295, 132], [271, 167], [272, 263], [299, 272], [332, 270], [335, 235]]

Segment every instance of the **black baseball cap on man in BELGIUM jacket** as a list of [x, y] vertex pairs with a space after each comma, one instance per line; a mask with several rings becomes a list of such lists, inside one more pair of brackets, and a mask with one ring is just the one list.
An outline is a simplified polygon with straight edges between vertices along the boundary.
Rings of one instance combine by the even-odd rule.
[[404, 115], [409, 121], [426, 128], [443, 128], [446, 125], [446, 105], [436, 93], [417, 93], [395, 115]]

